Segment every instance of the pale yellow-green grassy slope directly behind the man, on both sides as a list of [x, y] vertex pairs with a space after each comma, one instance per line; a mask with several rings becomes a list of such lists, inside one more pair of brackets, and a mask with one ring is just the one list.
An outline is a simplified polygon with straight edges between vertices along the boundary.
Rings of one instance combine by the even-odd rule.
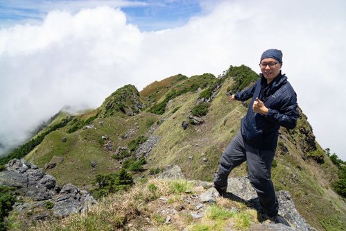
[[[162, 123], [156, 133], [161, 141], [153, 149], [151, 157], [155, 166], [178, 164], [189, 179], [212, 180], [218, 168], [223, 150], [239, 131], [240, 119], [247, 110], [240, 102], [230, 103], [225, 95], [231, 85], [226, 80], [216, 99], [211, 103], [206, 123], [189, 126], [183, 130], [181, 123], [187, 121], [188, 110], [198, 98], [198, 93], [187, 94], [168, 105]], [[175, 114], [173, 108], [180, 106]], [[302, 123], [302, 122], [300, 122]], [[290, 191], [295, 205], [304, 218], [318, 230], [340, 230], [346, 225], [345, 202], [331, 191], [329, 182], [336, 176], [336, 166], [325, 156], [325, 164], [315, 164], [302, 159], [302, 151], [295, 145], [293, 137], [282, 129], [280, 142], [284, 142], [289, 153], [277, 154], [277, 166], [273, 168], [273, 181], [277, 190]], [[189, 156], [193, 159], [189, 160]], [[202, 158], [206, 157], [207, 162]], [[246, 164], [234, 169], [232, 176], [246, 174]]]

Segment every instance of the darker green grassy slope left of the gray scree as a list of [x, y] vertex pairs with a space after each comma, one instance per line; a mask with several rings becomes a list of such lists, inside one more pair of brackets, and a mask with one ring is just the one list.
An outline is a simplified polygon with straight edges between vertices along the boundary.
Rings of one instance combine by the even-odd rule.
[[[95, 119], [92, 124], [96, 129], [80, 129], [71, 134], [57, 130], [51, 132], [40, 146], [26, 156], [26, 159], [44, 167], [54, 156], [61, 156], [64, 158], [63, 162], [58, 163], [53, 169], [47, 169], [46, 172], [55, 176], [61, 185], [71, 182], [79, 187], [89, 188], [97, 173], [119, 170], [121, 164], [112, 159], [112, 153], [118, 146], [126, 146], [132, 139], [143, 135], [148, 130], [148, 121], [156, 121], [156, 117], [155, 114], [142, 112], [135, 117]], [[103, 121], [103, 125], [100, 121]], [[128, 139], [122, 138], [128, 130], [137, 129], [137, 126], [137, 134]], [[107, 135], [112, 142], [112, 152], [105, 148], [104, 144], [107, 141], [103, 141], [103, 135]], [[62, 137], [67, 137], [67, 142], [62, 142]], [[97, 166], [93, 168], [90, 162], [95, 162]]]

